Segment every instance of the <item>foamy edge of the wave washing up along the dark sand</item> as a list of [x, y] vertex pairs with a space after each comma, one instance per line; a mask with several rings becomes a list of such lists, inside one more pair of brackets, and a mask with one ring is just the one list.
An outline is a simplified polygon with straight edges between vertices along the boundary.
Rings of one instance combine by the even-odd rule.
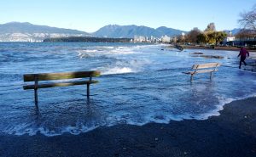
[[21, 136], [27, 134], [29, 136], [37, 135], [38, 133], [43, 134], [47, 137], [59, 136], [63, 133], [70, 133], [73, 135], [79, 135], [83, 132], [90, 132], [100, 126], [115, 126], [119, 124], [129, 124], [136, 126], [143, 126], [150, 122], [155, 123], [164, 123], [168, 124], [170, 121], [183, 121], [195, 119], [198, 121], [207, 120], [211, 116], [218, 116], [219, 111], [224, 109], [224, 104], [230, 104], [233, 101], [256, 97], [256, 94], [249, 95], [243, 98], [219, 98], [220, 102], [215, 105], [216, 109], [211, 110], [205, 114], [201, 115], [172, 115], [162, 112], [158, 114], [157, 112], [148, 113], [143, 116], [135, 116], [132, 114], [124, 114], [124, 112], [119, 112], [115, 114], [109, 114], [104, 121], [92, 121], [90, 123], [84, 123], [78, 120], [74, 126], [59, 126], [57, 128], [50, 128], [44, 125], [44, 122], [41, 125], [32, 123], [21, 123], [15, 126], [7, 126], [4, 129], [4, 133], [13, 134]]

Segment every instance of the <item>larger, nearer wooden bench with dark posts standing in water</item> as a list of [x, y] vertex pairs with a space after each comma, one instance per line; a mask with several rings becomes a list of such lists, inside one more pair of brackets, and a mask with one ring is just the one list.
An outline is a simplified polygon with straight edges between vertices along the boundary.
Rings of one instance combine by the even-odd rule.
[[[90, 84], [97, 83], [98, 81], [92, 80], [92, 77], [100, 76], [99, 71], [76, 71], [76, 72], [62, 72], [62, 73], [41, 73], [41, 74], [25, 74], [24, 81], [34, 81], [32, 85], [23, 86], [24, 90], [33, 89], [35, 96], [35, 105], [38, 107], [38, 88], [46, 87], [67, 87], [75, 85], [87, 85], [87, 98], [90, 97]], [[71, 79], [89, 77], [88, 81], [71, 81]], [[68, 80], [61, 82], [44, 82], [38, 81], [53, 81], [53, 80]]]

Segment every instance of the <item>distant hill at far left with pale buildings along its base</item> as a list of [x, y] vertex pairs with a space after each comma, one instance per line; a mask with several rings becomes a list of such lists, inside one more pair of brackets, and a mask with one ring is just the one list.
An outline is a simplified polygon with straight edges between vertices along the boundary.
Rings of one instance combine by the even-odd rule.
[[0, 42], [42, 42], [49, 37], [90, 36], [84, 31], [10, 22], [0, 25]]

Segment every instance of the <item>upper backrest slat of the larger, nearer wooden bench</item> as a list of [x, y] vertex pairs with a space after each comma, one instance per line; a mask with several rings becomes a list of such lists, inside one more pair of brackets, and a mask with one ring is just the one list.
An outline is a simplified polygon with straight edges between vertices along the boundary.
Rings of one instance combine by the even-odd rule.
[[97, 77], [100, 76], [100, 71], [75, 71], [75, 72], [62, 72], [62, 73], [41, 73], [41, 74], [26, 74], [23, 76], [24, 81], [35, 81], [35, 76], [38, 76], [38, 81], [49, 80], [63, 80], [84, 77]]

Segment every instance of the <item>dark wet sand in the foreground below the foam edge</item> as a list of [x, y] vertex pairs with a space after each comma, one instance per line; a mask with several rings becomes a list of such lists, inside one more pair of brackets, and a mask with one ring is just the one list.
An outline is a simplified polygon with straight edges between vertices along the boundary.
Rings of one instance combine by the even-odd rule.
[[0, 135], [0, 156], [256, 156], [256, 97], [204, 121], [99, 127], [80, 135]]

